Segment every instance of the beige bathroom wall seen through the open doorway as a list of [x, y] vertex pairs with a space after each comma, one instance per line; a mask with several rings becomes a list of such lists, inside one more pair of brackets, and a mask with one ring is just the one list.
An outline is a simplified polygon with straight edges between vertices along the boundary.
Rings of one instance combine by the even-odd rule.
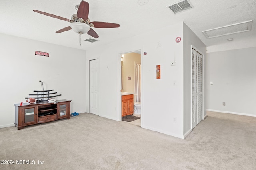
[[[135, 86], [135, 63], [140, 63], [140, 54], [138, 53], [126, 53], [123, 57], [122, 66], [122, 79], [123, 89], [122, 92], [134, 93]], [[128, 77], [131, 77], [128, 80]]]

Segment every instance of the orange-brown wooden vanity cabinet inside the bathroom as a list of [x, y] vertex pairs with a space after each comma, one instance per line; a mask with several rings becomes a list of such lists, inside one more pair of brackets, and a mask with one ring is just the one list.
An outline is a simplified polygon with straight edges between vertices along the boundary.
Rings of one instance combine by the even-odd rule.
[[122, 95], [122, 117], [133, 114], [133, 94]]

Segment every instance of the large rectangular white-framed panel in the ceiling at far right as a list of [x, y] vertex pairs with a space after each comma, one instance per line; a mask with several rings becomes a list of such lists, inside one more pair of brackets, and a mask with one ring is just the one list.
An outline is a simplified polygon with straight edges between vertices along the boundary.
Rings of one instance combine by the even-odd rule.
[[252, 20], [202, 31], [206, 38], [242, 33], [252, 29]]

